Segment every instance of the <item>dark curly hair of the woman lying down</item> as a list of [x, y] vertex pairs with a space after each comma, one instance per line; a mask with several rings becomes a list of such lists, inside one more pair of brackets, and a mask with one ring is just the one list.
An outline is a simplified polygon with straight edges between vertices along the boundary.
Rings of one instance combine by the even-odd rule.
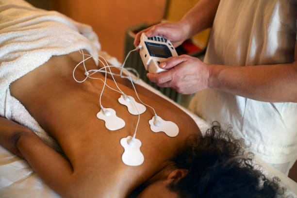
[[244, 140], [224, 132], [218, 122], [203, 137], [192, 135], [187, 148], [174, 161], [188, 174], [168, 188], [182, 198], [278, 198], [283, 188], [278, 179], [268, 180], [254, 168], [253, 154], [244, 149]]

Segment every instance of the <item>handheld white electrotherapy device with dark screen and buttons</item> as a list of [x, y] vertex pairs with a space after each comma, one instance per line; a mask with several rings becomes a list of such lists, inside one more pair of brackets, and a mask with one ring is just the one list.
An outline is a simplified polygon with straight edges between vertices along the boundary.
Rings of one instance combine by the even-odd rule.
[[162, 61], [171, 56], [177, 56], [177, 52], [171, 42], [161, 36], [153, 36], [148, 38], [145, 33], [140, 36], [140, 57], [149, 73], [161, 73], [166, 71], [159, 67]]

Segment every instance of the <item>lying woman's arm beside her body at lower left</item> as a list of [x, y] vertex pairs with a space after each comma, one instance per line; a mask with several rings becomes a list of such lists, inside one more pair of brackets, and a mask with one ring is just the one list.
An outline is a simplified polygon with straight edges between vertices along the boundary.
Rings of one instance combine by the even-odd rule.
[[71, 197], [71, 164], [29, 128], [0, 117], [0, 145], [28, 161], [37, 175], [63, 197]]

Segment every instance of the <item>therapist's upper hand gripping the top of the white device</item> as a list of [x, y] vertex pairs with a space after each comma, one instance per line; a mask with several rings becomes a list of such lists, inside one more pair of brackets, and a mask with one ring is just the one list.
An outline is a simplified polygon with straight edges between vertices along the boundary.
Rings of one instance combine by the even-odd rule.
[[141, 34], [146, 33], [148, 37], [156, 35], [162, 36], [165, 39], [169, 40], [172, 43], [172, 45], [176, 48], [177, 46], [181, 45], [181, 43], [184, 40], [187, 39], [187, 32], [187, 25], [181, 22], [160, 23], [137, 33], [133, 44], [136, 48], [139, 45]]

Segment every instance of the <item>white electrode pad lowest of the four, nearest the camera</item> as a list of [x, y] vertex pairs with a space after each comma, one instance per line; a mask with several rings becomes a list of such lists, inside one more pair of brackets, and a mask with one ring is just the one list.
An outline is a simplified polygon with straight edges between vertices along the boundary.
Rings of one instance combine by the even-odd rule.
[[120, 143], [125, 149], [122, 155], [122, 161], [125, 165], [141, 165], [144, 162], [144, 156], [140, 151], [141, 142], [139, 139], [134, 138], [134, 141], [131, 146], [128, 144], [128, 141], [132, 139], [132, 136], [124, 137], [121, 139]]

